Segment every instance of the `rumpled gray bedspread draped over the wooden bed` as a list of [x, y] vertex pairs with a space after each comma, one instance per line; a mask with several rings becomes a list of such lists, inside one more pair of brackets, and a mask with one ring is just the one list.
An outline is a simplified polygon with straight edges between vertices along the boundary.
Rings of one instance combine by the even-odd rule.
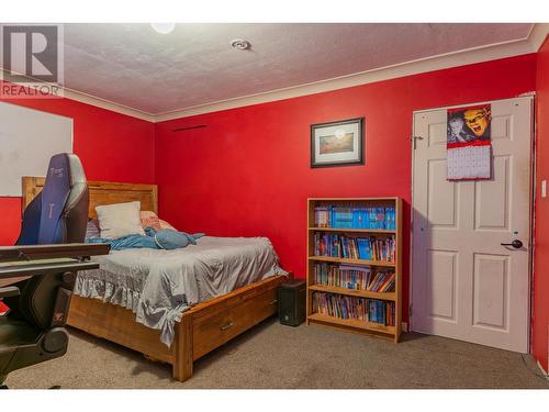
[[190, 307], [285, 274], [267, 237], [205, 236], [186, 248], [116, 250], [93, 260], [100, 268], [79, 271], [75, 293], [131, 309], [136, 322], [161, 331], [167, 346]]

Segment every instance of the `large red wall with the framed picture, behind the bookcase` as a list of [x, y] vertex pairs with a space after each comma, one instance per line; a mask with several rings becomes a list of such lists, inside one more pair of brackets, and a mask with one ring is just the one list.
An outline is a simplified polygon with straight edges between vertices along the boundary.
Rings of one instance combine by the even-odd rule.
[[[164, 219], [180, 230], [268, 236], [305, 274], [306, 198], [399, 196], [410, 233], [412, 112], [535, 90], [529, 54], [156, 124]], [[366, 166], [312, 169], [310, 125], [366, 118]], [[173, 132], [204, 124], [204, 129]], [[407, 319], [410, 242], [404, 242]]]

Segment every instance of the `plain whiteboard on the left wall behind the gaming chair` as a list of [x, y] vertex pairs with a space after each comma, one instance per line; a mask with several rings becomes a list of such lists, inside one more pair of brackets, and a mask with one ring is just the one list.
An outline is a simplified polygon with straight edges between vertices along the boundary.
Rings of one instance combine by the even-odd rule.
[[0, 197], [20, 197], [22, 176], [46, 176], [49, 158], [72, 153], [72, 119], [0, 102]]

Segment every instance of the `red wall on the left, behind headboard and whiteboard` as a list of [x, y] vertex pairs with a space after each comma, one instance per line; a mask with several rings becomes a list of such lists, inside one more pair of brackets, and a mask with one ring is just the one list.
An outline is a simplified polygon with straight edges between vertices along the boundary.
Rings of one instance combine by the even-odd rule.
[[[68, 99], [3, 100], [74, 119], [74, 151], [88, 179], [155, 181], [154, 124]], [[21, 224], [21, 198], [0, 198], [0, 245], [12, 245]]]

